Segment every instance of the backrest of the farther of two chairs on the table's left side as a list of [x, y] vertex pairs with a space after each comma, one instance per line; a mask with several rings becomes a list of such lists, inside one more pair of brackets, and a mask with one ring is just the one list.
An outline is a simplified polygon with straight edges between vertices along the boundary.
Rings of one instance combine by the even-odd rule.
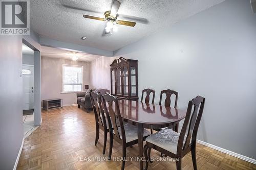
[[96, 123], [104, 127], [106, 125], [106, 118], [101, 105], [101, 94], [91, 92], [90, 98], [91, 98], [91, 104], [94, 111]]

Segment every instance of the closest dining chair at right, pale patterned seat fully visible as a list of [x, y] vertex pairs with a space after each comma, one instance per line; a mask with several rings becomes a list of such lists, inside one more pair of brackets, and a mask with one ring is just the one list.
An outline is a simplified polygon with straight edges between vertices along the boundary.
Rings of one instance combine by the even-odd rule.
[[144, 155], [146, 158], [146, 167], [150, 160], [151, 149], [155, 149], [169, 157], [176, 159], [177, 170], [181, 169], [181, 159], [191, 151], [193, 167], [197, 169], [196, 161], [196, 140], [198, 127], [203, 114], [205, 98], [197, 96], [188, 102], [186, 117], [181, 129], [177, 133], [172, 129], [161, 130], [146, 138], [144, 146]]

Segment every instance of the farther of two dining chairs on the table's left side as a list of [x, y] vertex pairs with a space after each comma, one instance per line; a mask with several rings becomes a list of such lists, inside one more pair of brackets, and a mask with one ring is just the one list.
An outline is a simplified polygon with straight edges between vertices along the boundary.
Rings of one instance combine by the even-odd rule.
[[104, 132], [104, 144], [103, 144], [103, 152], [105, 154], [106, 149], [106, 139], [109, 132], [108, 122], [106, 121], [106, 117], [101, 105], [101, 94], [91, 92], [90, 93], [91, 104], [95, 115], [95, 123], [96, 123], [96, 136], [95, 136], [95, 145], [99, 140], [99, 129]]

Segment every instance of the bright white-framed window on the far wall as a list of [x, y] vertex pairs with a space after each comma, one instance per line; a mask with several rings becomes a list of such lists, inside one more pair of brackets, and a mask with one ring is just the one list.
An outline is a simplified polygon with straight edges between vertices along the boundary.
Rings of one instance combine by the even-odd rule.
[[83, 66], [63, 65], [62, 91], [63, 92], [82, 91], [82, 82], [83, 82], [82, 72], [83, 72]]

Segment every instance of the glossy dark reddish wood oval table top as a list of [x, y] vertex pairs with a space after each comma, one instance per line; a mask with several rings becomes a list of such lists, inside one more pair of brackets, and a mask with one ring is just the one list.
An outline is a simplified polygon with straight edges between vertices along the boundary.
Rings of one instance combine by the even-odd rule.
[[186, 111], [160, 105], [136, 101], [120, 100], [119, 108], [124, 119], [144, 125], [159, 125], [179, 122], [185, 118]]

